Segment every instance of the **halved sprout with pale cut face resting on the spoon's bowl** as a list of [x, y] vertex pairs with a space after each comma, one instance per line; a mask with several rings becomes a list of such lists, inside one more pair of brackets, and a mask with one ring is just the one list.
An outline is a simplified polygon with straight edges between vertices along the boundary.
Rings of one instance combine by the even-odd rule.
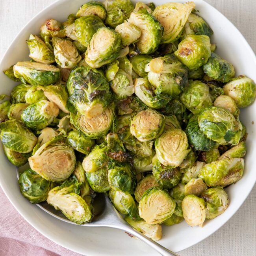
[[56, 210], [61, 210], [70, 221], [83, 224], [91, 221], [93, 213], [91, 207], [77, 194], [78, 190], [77, 185], [64, 182], [50, 190], [47, 202]]

